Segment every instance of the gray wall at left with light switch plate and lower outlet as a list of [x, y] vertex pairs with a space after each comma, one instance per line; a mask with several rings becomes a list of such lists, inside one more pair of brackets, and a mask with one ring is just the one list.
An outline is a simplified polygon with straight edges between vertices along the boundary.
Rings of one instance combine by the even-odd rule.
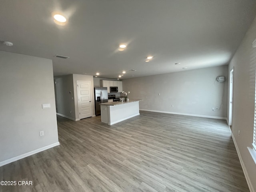
[[0, 90], [0, 162], [58, 142], [52, 60], [0, 51]]

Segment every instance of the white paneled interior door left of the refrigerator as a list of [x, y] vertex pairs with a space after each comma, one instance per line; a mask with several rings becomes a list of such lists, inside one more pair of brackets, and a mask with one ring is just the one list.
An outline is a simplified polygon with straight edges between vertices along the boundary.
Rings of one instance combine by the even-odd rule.
[[91, 82], [77, 81], [79, 119], [92, 116]]

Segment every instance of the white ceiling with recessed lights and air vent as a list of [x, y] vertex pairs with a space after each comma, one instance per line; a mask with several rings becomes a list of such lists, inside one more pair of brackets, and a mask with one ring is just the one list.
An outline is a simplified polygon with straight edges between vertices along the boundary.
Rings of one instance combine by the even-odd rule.
[[[225, 65], [256, 16], [255, 0], [0, 2], [0, 40], [14, 44], [0, 50], [52, 59], [54, 76], [118, 78], [125, 70], [122, 78], [131, 78]], [[68, 16], [68, 24], [56, 25], [53, 11]], [[145, 62], [147, 55], [154, 59]]]

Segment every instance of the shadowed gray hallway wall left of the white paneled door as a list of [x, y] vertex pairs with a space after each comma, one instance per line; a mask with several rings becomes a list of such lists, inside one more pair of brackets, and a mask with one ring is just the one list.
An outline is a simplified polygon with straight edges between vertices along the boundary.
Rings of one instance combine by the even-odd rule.
[[[76, 120], [73, 75], [55, 77], [54, 80], [56, 82], [56, 111], [59, 114]], [[71, 92], [71, 94], [69, 92]]]

